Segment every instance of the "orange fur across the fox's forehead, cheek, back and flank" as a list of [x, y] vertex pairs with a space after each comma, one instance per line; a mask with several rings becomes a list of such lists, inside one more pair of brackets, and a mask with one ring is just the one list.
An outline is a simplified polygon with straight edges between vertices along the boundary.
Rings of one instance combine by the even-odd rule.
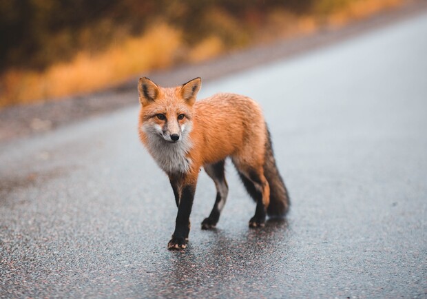
[[258, 103], [239, 94], [216, 94], [196, 103], [188, 103], [183, 99], [181, 87], [156, 87], [157, 99], [141, 105], [138, 127], [140, 140], [147, 146], [147, 134], [141, 130], [144, 121], [161, 123], [157, 118], [147, 120], [147, 116], [164, 113], [170, 118], [187, 113], [193, 123], [193, 130], [189, 134], [193, 147], [187, 155], [193, 163], [187, 180], [195, 181], [194, 176], [197, 176], [200, 167], [227, 156], [235, 157], [236, 161], [242, 161], [244, 165], [256, 166], [262, 172], [267, 136]]

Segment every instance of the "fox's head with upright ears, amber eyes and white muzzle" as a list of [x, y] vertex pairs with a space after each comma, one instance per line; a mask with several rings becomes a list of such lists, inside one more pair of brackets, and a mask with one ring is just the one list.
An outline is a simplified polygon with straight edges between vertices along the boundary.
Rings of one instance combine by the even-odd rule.
[[141, 130], [169, 143], [182, 141], [192, 128], [193, 105], [201, 83], [196, 78], [178, 87], [164, 88], [148, 78], [140, 78]]

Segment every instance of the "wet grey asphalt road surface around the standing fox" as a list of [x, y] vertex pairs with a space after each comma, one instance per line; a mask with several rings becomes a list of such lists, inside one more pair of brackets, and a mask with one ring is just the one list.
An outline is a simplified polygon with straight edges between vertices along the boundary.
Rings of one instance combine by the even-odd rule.
[[201, 173], [185, 251], [166, 249], [176, 207], [137, 105], [3, 144], [0, 297], [426, 298], [426, 37], [422, 14], [203, 85], [260, 102], [292, 206], [249, 229], [228, 163], [229, 200], [202, 231]]

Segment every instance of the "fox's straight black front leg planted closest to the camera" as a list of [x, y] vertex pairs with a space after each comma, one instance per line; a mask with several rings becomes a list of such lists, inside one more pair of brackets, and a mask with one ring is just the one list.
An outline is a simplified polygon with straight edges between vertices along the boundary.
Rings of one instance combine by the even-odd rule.
[[185, 185], [178, 205], [178, 215], [176, 216], [175, 231], [171, 240], [167, 244], [168, 249], [184, 249], [187, 247], [186, 239], [190, 231], [190, 214], [193, 206], [194, 192], [196, 185]]

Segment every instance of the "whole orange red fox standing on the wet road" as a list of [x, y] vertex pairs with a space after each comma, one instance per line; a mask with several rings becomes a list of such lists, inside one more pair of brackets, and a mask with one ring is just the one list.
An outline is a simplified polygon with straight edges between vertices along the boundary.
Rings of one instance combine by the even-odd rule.
[[160, 87], [138, 81], [138, 134], [169, 177], [178, 214], [168, 249], [187, 247], [190, 214], [200, 169], [216, 186], [211, 213], [202, 229], [214, 229], [227, 200], [225, 159], [231, 158], [249, 196], [256, 202], [249, 227], [264, 227], [267, 215], [284, 217], [289, 196], [275, 162], [270, 132], [260, 105], [247, 96], [215, 94], [196, 101], [202, 80]]

